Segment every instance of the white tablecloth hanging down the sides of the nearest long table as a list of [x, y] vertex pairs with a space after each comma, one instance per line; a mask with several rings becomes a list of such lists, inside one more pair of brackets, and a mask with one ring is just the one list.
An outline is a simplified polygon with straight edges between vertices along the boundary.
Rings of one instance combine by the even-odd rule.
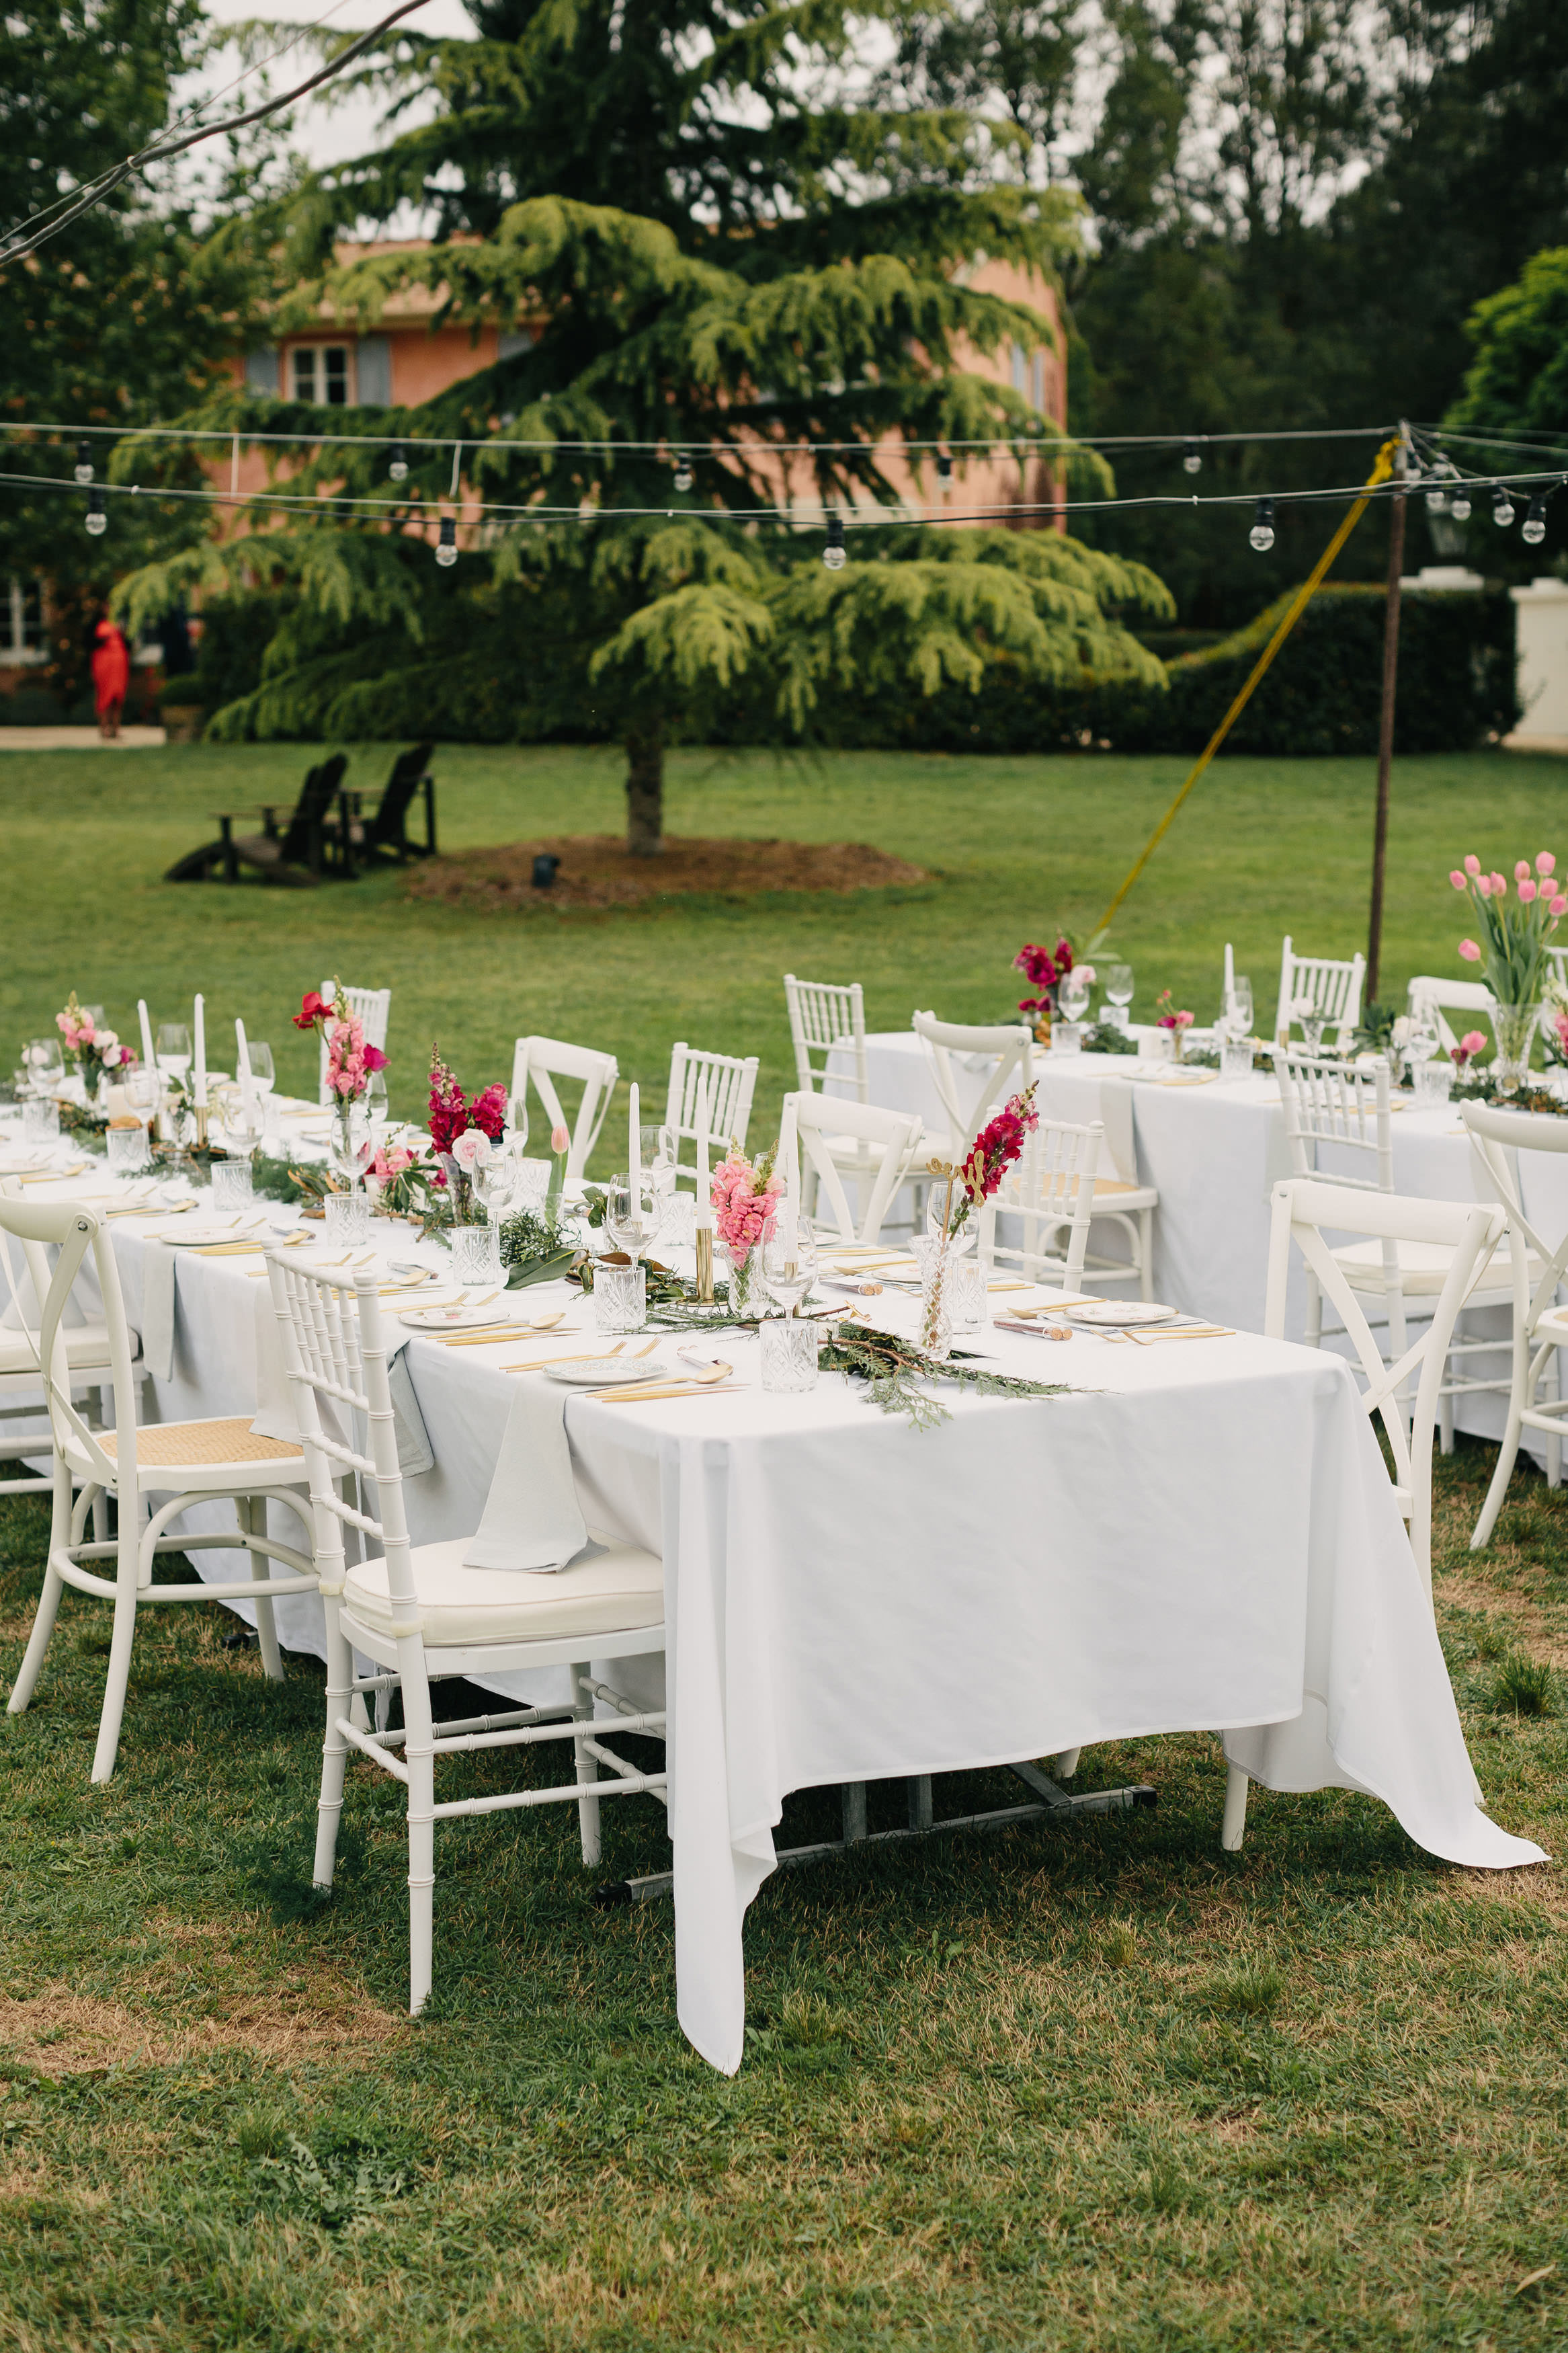
[[[132, 1320], [158, 1231], [113, 1228]], [[444, 1259], [407, 1233], [390, 1254]], [[150, 1417], [254, 1409], [275, 1381], [261, 1261], [174, 1257]], [[914, 1301], [877, 1308], [912, 1327]], [[588, 1308], [571, 1313], [559, 1351], [585, 1327]], [[757, 1341], [726, 1334], [736, 1393], [564, 1407], [590, 1525], [665, 1560], [677, 2007], [717, 2068], [741, 2064], [743, 1920], [795, 1788], [1215, 1729], [1265, 1786], [1366, 1791], [1448, 1861], [1542, 1859], [1479, 1812], [1432, 1612], [1338, 1358], [1246, 1334], [976, 1346], [1067, 1393], [947, 1391], [950, 1419], [914, 1431], [837, 1374], [764, 1395]], [[477, 1527], [517, 1355], [515, 1334], [409, 1341], [435, 1452], [404, 1489], [414, 1541]], [[282, 1642], [320, 1649], [317, 1612], [284, 1602]]]

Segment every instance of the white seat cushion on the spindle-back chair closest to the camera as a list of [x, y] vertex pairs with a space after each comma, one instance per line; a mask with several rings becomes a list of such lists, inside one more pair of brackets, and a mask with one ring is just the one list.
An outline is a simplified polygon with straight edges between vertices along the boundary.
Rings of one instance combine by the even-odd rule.
[[[607, 1553], [574, 1569], [465, 1569], [473, 1537], [449, 1544], [416, 1544], [414, 1591], [418, 1626], [430, 1649], [470, 1642], [559, 1642], [567, 1635], [628, 1633], [658, 1626], [665, 1614], [665, 1567], [635, 1544], [609, 1544]], [[343, 1607], [371, 1633], [390, 1635], [407, 1624], [386, 1591], [386, 1560], [367, 1560], [343, 1581]]]

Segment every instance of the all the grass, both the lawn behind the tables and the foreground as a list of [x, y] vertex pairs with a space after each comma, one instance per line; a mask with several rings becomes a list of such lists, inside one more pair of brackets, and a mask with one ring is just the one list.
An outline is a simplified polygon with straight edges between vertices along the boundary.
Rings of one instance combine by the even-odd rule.
[[[672, 1035], [785, 1078], [778, 974], [860, 974], [872, 1024], [980, 1016], [1009, 958], [1098, 915], [1178, 762], [675, 762], [689, 833], [870, 840], [933, 882], [865, 901], [724, 901], [489, 922], [360, 889], [165, 889], [207, 809], [287, 795], [303, 753], [0, 753], [21, 1038], [68, 986], [127, 1026], [200, 979], [214, 1021], [329, 969], [390, 979], [414, 1108], [430, 1031], [477, 1080], [522, 1028], [614, 1047], [654, 1085]], [[381, 753], [355, 774], [381, 769]], [[442, 753], [456, 842], [618, 819], [599, 753]], [[1443, 875], [1552, 840], [1563, 762], [1394, 772], [1385, 995], [1453, 969]], [[1272, 1007], [1279, 934], [1361, 944], [1363, 762], [1227, 762], [1119, 927], [1140, 1002], [1213, 1009], [1220, 944]], [[1563, 845], [1568, 847], [1568, 845]], [[261, 1024], [254, 1024], [261, 1028]], [[263, 1028], [266, 1033], [266, 1028]], [[284, 1082], [308, 1080], [289, 1040]], [[1519, 1471], [1465, 1539], [1493, 1449], [1439, 1471], [1436, 1595], [1497, 1817], [1568, 1840], [1568, 1501]], [[0, 1506], [0, 1678], [45, 1522]], [[748, 2064], [684, 2045], [665, 1906], [592, 1911], [571, 1826], [440, 1840], [437, 1998], [404, 2017], [395, 1793], [353, 1781], [329, 1906], [306, 1887], [320, 1668], [268, 1687], [221, 1609], [143, 1621], [108, 1791], [87, 1772], [106, 1617], [66, 1598], [42, 1697], [0, 1718], [0, 2348], [515, 2353], [1027, 2346], [1046, 2353], [1552, 2348], [1568, 2334], [1566, 1906], [1554, 1868], [1434, 1864], [1347, 1791], [1253, 1795], [1225, 1857], [1211, 1739], [1095, 1748], [1081, 1786], [1154, 1814], [877, 1852], [769, 1882], [748, 1922]], [[475, 1762], [470, 1786], [498, 1786]], [[938, 1812], [1004, 1805], [938, 1781]], [[903, 1807], [872, 1788], [872, 1826]], [[832, 1835], [792, 1798], [788, 1842]], [[604, 1875], [661, 1868], [607, 1807]]]

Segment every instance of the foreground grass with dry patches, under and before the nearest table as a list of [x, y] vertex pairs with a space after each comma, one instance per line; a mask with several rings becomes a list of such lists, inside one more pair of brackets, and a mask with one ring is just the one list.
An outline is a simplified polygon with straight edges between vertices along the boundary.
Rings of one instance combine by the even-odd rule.
[[[1568, 1840], [1568, 1501], [1439, 1478], [1439, 1619], [1497, 1817]], [[0, 1506], [0, 1671], [42, 1513]], [[1091, 1751], [1159, 1809], [776, 1878], [733, 2082], [684, 2045], [668, 1906], [599, 1913], [567, 1819], [447, 1826], [437, 1995], [404, 2014], [393, 1793], [350, 1781], [303, 1897], [320, 1671], [221, 1609], [143, 1621], [89, 1791], [103, 1614], [66, 1598], [0, 1718], [0, 2346], [205, 2353], [1561, 2346], [1566, 1906], [1420, 1854], [1366, 1798], [1255, 1791], [1211, 1739]], [[489, 1774], [496, 1781], [489, 1781]], [[475, 1791], [501, 1786], [475, 1765]], [[938, 1812], [1016, 1784], [938, 1784]], [[900, 1786], [872, 1788], [872, 1821]], [[830, 1835], [832, 1793], [790, 1800]], [[658, 1868], [607, 1809], [607, 1873]]]

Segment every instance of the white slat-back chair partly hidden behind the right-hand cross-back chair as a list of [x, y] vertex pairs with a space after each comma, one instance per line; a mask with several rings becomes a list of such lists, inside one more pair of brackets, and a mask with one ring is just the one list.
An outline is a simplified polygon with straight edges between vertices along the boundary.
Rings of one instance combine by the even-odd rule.
[[[1328, 1056], [1302, 1054], [1295, 1047], [1274, 1047], [1274, 1073], [1279, 1078], [1279, 1101], [1286, 1115], [1286, 1144], [1291, 1167], [1298, 1176], [1316, 1176], [1321, 1184], [1349, 1191], [1394, 1191], [1394, 1144], [1392, 1144], [1392, 1094], [1389, 1066], [1378, 1056], [1368, 1068]], [[1338, 1146], [1340, 1153], [1359, 1158], [1359, 1169], [1326, 1169], [1321, 1153]], [[1354, 1292], [1382, 1301], [1389, 1332], [1389, 1351], [1403, 1355], [1406, 1322], [1410, 1311], [1425, 1315], [1427, 1301], [1436, 1299], [1448, 1278], [1448, 1252], [1436, 1242], [1389, 1238], [1347, 1242], [1335, 1249], [1335, 1264]], [[1512, 1287], [1502, 1264], [1490, 1268], [1465, 1299], [1469, 1308], [1509, 1306]], [[1316, 1348], [1324, 1337], [1324, 1294], [1307, 1271], [1307, 1346]], [[1455, 1329], [1448, 1348], [1448, 1372], [1441, 1384], [1439, 1414], [1443, 1454], [1453, 1454], [1453, 1400], [1479, 1391], [1505, 1391], [1507, 1381], [1472, 1372], [1474, 1358], [1495, 1358], [1507, 1351], [1502, 1339], [1469, 1339]]]

